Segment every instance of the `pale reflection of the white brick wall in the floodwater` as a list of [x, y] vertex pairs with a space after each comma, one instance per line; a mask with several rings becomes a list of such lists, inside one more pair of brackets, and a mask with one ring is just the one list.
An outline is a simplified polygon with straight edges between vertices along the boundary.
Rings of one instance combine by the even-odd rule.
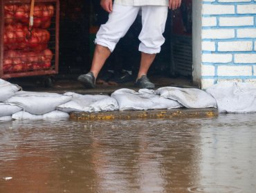
[[223, 116], [214, 127], [200, 132], [201, 184], [208, 190], [205, 192], [213, 192], [209, 184], [218, 192], [255, 192], [255, 123], [253, 114]]

